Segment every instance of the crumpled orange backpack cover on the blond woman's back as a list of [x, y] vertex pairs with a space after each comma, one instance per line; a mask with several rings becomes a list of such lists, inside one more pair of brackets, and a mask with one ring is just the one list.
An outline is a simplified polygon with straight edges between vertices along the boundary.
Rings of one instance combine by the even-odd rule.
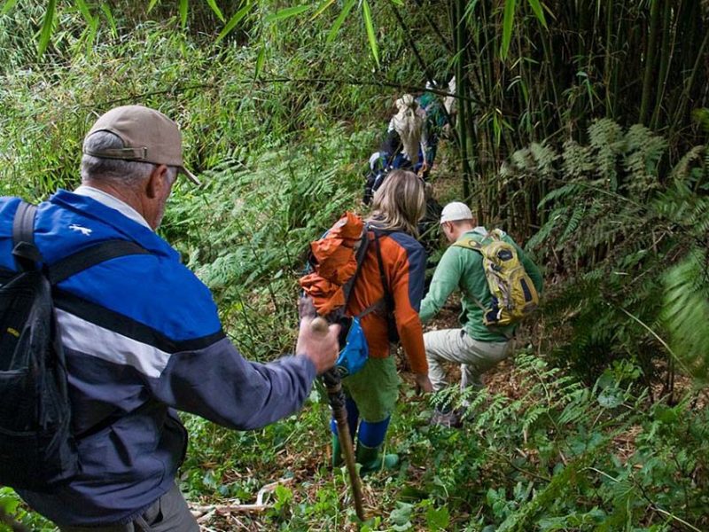
[[[347, 212], [322, 239], [310, 243], [312, 271], [299, 283], [315, 304], [320, 316], [344, 307], [345, 285], [357, 272], [357, 249], [362, 244], [364, 222]], [[366, 237], [366, 235], [364, 235]]]

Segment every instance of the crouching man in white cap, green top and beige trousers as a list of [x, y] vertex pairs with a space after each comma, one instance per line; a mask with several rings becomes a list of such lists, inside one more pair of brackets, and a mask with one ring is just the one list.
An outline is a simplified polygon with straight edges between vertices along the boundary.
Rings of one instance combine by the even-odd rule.
[[[496, 300], [488, 285], [481, 246], [492, 240], [502, 241], [503, 245], [498, 247], [503, 251], [503, 260], [514, 261], [510, 246], [516, 251], [516, 258], [524, 266], [524, 271], [514, 272], [514, 275], [520, 276], [514, 278], [514, 281], [521, 284], [510, 291], [515, 297], [518, 288], [522, 300], [526, 297], [522, 293], [525, 288], [526, 293], [541, 293], [541, 272], [508, 235], [502, 231], [488, 232], [484, 227], [476, 226], [471, 209], [464, 203], [456, 201], [443, 207], [440, 228], [453, 245], [443, 254], [433, 274], [431, 287], [421, 303], [421, 321], [430, 321], [448, 300], [448, 296], [458, 289], [463, 305], [461, 323], [464, 328], [425, 333], [428, 375], [433, 389], [440, 391], [448, 385], [441, 363], [454, 362], [461, 364], [461, 388], [482, 387], [481, 375], [510, 356], [510, 339], [517, 328], [515, 320], [518, 317], [504, 316], [502, 310], [495, 308]], [[528, 278], [524, 278], [525, 272]], [[527, 279], [531, 279], [535, 290], [526, 286]], [[534, 304], [531, 297], [527, 299], [532, 308]], [[516, 302], [520, 306], [525, 304], [524, 301]], [[511, 325], [492, 325], [495, 319], [502, 319], [503, 324], [509, 321]], [[456, 411], [446, 406], [434, 412], [432, 423], [457, 426], [460, 419]]]

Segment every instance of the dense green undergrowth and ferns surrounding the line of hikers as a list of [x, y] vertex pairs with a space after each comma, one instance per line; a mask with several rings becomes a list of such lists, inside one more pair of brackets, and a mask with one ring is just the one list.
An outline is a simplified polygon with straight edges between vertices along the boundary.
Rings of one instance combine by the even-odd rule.
[[[97, 113], [120, 103], [160, 108], [183, 127], [188, 165], [204, 182], [177, 185], [161, 233], [212, 289], [245, 356], [287, 352], [304, 250], [344, 209], [359, 208], [362, 162], [396, 95], [312, 81], [370, 79], [362, 35], [327, 43], [319, 22], [259, 33], [245, 21], [216, 45], [142, 13], [100, 27], [88, 46], [79, 15], [65, 11], [40, 61], [28, 43], [42, 12], [29, 3], [0, 16], [0, 194], [41, 200], [74, 187]], [[424, 27], [409, 20], [417, 22]], [[418, 82], [401, 30], [386, 37], [387, 78]], [[254, 81], [257, 64], [278, 81]], [[428, 426], [431, 403], [405, 384], [388, 439], [403, 464], [365, 480], [370, 520], [357, 524], [346, 473], [327, 467], [329, 414], [317, 390], [298, 416], [260, 431], [185, 416], [180, 482], [192, 504], [253, 503], [282, 481], [265, 512], [214, 513], [210, 528], [709, 529], [707, 397], [701, 379], [687, 377], [706, 375], [709, 352], [705, 147], [670, 164], [665, 141], [639, 126], [596, 121], [584, 137], [517, 145], [479, 188], [505, 214], [490, 223], [532, 237], [549, 291], [514, 363], [482, 394], [452, 392], [471, 402], [471, 420], [460, 430]], [[463, 192], [444, 177], [456, 176], [451, 146], [434, 173], [441, 202]], [[543, 199], [539, 228], [529, 223], [531, 198]], [[455, 310], [436, 326], [453, 323]], [[52, 529], [10, 489], [0, 489], [0, 505], [31, 529]]]

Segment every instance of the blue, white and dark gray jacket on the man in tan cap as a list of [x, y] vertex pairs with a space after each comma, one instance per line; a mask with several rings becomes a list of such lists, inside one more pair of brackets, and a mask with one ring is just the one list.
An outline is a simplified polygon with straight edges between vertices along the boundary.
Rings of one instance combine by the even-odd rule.
[[[18, 205], [0, 198], [0, 276], [16, 270]], [[175, 410], [258, 428], [299, 410], [316, 378], [306, 356], [246, 361], [206, 286], [140, 223], [71, 192], [39, 206], [35, 243], [49, 264], [109, 239], [150, 254], [102, 262], [55, 288], [82, 472], [49, 494], [19, 491], [60, 525], [128, 522], [167, 492], [187, 445]]]

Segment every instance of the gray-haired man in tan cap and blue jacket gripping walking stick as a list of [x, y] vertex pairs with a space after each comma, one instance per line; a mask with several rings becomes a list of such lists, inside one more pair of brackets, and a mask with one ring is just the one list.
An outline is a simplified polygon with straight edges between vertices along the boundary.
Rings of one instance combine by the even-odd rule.
[[[183, 167], [180, 131], [163, 113], [121, 106], [103, 114], [84, 139], [81, 171], [76, 191], [58, 191], [35, 216], [44, 264], [51, 272], [100, 242], [138, 251], [55, 287], [81, 471], [45, 492], [17, 491], [62, 531], [197, 532], [175, 484], [187, 432], [173, 409], [239, 430], [289, 416], [334, 364], [339, 328], [321, 336], [305, 318], [295, 356], [269, 364], [241, 356], [209, 290], [154, 232], [177, 174], [197, 182]], [[0, 284], [18, 268], [19, 203], [0, 199]]]

